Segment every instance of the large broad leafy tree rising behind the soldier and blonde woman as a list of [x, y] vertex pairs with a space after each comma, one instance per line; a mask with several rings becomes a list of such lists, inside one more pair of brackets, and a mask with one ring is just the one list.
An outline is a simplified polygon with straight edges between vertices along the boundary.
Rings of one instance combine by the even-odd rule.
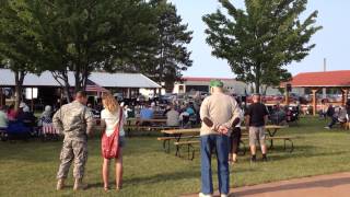
[[[142, 0], [23, 0], [37, 25], [33, 31], [48, 65], [69, 94], [69, 71], [83, 90], [93, 70], [114, 71], [152, 35], [153, 13]], [[130, 58], [132, 59], [132, 58]], [[67, 96], [69, 97], [69, 96]]]

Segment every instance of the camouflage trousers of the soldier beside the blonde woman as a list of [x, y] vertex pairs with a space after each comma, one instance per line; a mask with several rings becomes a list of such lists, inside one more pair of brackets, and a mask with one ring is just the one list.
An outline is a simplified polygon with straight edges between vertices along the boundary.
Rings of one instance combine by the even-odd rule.
[[57, 173], [58, 179], [67, 178], [72, 161], [74, 161], [74, 178], [82, 178], [88, 161], [88, 141], [65, 139], [60, 161], [61, 163]]

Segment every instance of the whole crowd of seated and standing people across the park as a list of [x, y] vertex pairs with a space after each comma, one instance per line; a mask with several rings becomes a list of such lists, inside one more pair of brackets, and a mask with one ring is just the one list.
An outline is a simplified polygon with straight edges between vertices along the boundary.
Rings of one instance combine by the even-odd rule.
[[[57, 173], [57, 189], [66, 186], [68, 171], [74, 162], [74, 189], [86, 188], [83, 184], [84, 166], [88, 159], [88, 136], [95, 125], [95, 114], [98, 114], [102, 137], [103, 182], [104, 189], [109, 189], [109, 163], [115, 159], [116, 188], [122, 186], [122, 149], [126, 144], [124, 125], [127, 118], [136, 117], [137, 124], [152, 126], [150, 119], [156, 116], [166, 118], [166, 126], [174, 128], [190, 128], [201, 124], [201, 193], [199, 196], [211, 196], [213, 193], [211, 175], [211, 154], [218, 158], [219, 192], [222, 197], [229, 194], [230, 163], [237, 162], [237, 153], [242, 138], [242, 126], [248, 130], [250, 162], [257, 162], [257, 147], [261, 149], [261, 161], [267, 162], [267, 146], [265, 126], [268, 121], [284, 125], [298, 118], [299, 108], [282, 107], [276, 104], [268, 108], [261, 103], [259, 94], [253, 95], [253, 103], [248, 106], [240, 100], [226, 94], [223, 82], [210, 82], [211, 95], [205, 100], [173, 101], [166, 106], [159, 106], [155, 102], [129, 106], [119, 103], [109, 93], [103, 95], [98, 108], [88, 103], [85, 92], [78, 92], [72, 103], [54, 108], [47, 105], [38, 118], [30, 111], [25, 103], [21, 103], [18, 111], [14, 106], [0, 108], [0, 130], [9, 134], [24, 130], [28, 134], [35, 127], [51, 125], [58, 132], [63, 134], [65, 140], [60, 153], [60, 165]], [[349, 121], [350, 100], [346, 105], [336, 107], [324, 103], [319, 116], [330, 117], [328, 129], [337, 123]], [[213, 151], [215, 150], [215, 151]]]

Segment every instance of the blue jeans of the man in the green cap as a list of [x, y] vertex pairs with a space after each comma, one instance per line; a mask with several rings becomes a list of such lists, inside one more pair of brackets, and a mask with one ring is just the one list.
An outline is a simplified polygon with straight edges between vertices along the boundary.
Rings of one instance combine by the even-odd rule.
[[213, 194], [211, 175], [211, 152], [217, 150], [218, 177], [220, 194], [229, 194], [230, 171], [229, 171], [229, 137], [222, 135], [208, 135], [200, 137], [201, 155], [201, 193]]

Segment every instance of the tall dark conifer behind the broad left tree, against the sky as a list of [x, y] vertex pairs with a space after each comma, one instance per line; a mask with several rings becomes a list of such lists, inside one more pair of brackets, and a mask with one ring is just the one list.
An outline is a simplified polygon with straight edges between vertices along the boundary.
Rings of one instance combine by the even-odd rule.
[[182, 72], [192, 65], [191, 53], [187, 49], [192, 32], [188, 31], [175, 5], [167, 0], [151, 0], [149, 3], [154, 13], [154, 39], [141, 53], [135, 54], [131, 62], [121, 69], [142, 72], [170, 89], [180, 79]]

